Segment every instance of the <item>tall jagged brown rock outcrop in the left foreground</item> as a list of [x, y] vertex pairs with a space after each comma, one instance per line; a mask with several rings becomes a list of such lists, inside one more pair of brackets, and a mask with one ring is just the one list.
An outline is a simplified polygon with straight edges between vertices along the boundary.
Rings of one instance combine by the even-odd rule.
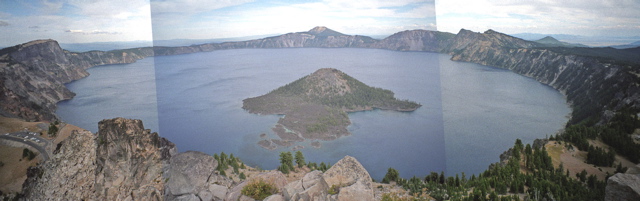
[[100, 131], [74, 132], [51, 160], [29, 171], [27, 200], [162, 200], [175, 145], [140, 120], [116, 118]]

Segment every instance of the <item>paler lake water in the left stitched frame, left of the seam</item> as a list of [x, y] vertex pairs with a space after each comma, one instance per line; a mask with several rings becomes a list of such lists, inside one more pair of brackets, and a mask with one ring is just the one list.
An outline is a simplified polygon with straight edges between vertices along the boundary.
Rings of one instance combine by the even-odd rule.
[[95, 133], [99, 121], [125, 117], [142, 119], [145, 128], [158, 131], [153, 59], [98, 66], [88, 72], [89, 77], [66, 85], [76, 96], [58, 103], [56, 114], [63, 121]]

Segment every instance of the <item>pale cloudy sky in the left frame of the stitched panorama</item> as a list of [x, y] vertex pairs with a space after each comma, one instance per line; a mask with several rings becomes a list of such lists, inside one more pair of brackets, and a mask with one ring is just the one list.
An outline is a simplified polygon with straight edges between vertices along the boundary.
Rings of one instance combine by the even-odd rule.
[[11, 25], [0, 29], [4, 46], [46, 38], [61, 43], [153, 39], [148, 0], [33, 1], [17, 6], [34, 14], [0, 12], [0, 19]]

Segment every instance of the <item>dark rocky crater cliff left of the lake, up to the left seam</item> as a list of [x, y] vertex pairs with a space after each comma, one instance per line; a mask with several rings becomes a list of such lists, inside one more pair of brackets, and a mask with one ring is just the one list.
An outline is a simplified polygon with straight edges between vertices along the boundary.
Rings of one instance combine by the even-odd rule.
[[54, 40], [37, 40], [0, 50], [0, 115], [53, 121], [56, 103], [75, 94], [64, 84], [88, 76], [89, 67], [132, 63], [151, 48], [68, 52]]

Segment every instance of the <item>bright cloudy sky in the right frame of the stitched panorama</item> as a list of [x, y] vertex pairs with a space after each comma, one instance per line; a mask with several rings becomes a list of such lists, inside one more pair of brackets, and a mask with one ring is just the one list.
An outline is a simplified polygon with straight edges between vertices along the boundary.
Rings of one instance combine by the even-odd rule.
[[638, 10], [640, 2], [633, 0], [436, 1], [438, 30], [454, 33], [465, 28], [506, 33], [637, 35], [634, 27], [640, 25]]

